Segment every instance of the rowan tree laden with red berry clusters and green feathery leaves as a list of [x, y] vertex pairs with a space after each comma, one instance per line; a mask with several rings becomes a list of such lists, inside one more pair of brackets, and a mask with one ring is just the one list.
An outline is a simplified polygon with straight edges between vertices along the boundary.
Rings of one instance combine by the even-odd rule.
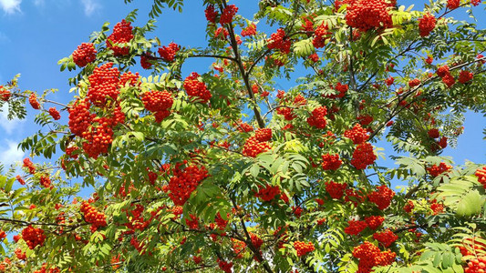
[[[0, 86], [40, 127], [0, 177], [0, 272], [486, 269], [486, 166], [440, 156], [486, 112], [486, 31], [450, 17], [481, 1], [253, 2], [155, 0], [146, 24], [102, 25], [59, 61], [68, 105]], [[155, 18], [183, 4], [206, 47], [160, 45]]]

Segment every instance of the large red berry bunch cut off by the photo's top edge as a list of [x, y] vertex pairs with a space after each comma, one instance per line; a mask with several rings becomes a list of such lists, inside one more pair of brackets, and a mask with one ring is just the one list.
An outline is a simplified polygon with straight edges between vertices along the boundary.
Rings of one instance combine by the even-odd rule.
[[346, 24], [363, 32], [389, 28], [393, 22], [388, 14], [388, 6], [384, 0], [357, 0], [347, 6]]

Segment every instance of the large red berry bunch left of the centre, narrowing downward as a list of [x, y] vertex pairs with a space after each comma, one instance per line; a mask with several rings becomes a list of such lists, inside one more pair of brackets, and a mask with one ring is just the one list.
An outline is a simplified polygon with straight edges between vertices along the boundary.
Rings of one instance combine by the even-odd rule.
[[201, 181], [208, 177], [205, 167], [189, 166], [181, 168], [181, 163], [176, 164], [173, 169], [173, 177], [169, 181], [169, 197], [176, 206], [183, 206], [191, 197], [192, 191], [199, 186]]

